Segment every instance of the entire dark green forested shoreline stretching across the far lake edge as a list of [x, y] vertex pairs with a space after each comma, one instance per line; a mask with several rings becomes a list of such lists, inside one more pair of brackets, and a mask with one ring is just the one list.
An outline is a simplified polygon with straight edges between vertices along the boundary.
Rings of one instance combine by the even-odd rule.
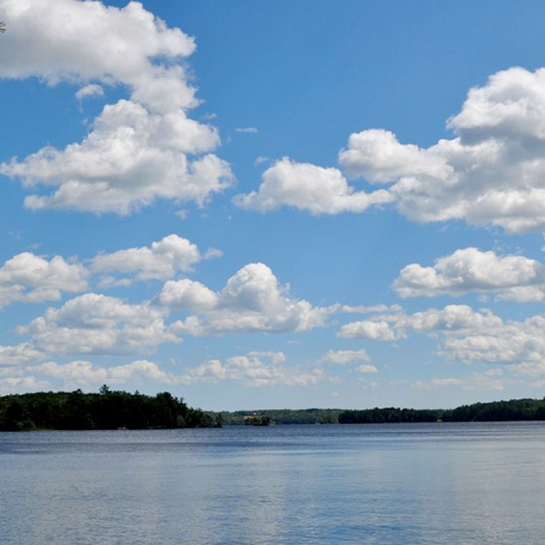
[[545, 420], [545, 399], [511, 399], [462, 405], [456, 409], [362, 410], [271, 409], [214, 413], [187, 407], [168, 392], [147, 396], [100, 393], [38, 392], [0, 396], [0, 431], [23, 429], [154, 429], [223, 425], [355, 424], [401, 422], [477, 422]]

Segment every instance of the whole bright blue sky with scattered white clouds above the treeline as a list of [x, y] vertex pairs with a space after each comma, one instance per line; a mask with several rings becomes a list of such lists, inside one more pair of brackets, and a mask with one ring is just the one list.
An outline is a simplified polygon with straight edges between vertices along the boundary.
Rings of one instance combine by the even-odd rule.
[[0, 0], [0, 394], [541, 397], [544, 17]]

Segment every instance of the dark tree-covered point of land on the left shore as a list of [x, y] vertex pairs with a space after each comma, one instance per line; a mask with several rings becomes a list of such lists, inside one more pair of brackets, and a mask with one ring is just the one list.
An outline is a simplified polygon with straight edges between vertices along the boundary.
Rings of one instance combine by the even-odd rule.
[[200, 409], [187, 407], [168, 392], [140, 393], [38, 392], [0, 397], [0, 430], [149, 429], [213, 426]]

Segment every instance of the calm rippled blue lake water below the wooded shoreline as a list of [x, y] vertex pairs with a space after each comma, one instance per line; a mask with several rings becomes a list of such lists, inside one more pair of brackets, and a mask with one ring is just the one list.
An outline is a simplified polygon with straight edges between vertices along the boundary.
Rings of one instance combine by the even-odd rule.
[[0, 433], [0, 543], [536, 544], [545, 423]]

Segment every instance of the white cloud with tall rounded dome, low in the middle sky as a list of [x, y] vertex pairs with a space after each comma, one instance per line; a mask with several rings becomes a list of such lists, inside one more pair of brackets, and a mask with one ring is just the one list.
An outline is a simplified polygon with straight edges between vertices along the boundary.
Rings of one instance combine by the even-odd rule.
[[157, 300], [169, 308], [199, 312], [172, 324], [175, 331], [191, 335], [307, 331], [337, 310], [290, 297], [288, 287], [263, 263], [245, 265], [218, 293], [199, 282], [169, 281]]

